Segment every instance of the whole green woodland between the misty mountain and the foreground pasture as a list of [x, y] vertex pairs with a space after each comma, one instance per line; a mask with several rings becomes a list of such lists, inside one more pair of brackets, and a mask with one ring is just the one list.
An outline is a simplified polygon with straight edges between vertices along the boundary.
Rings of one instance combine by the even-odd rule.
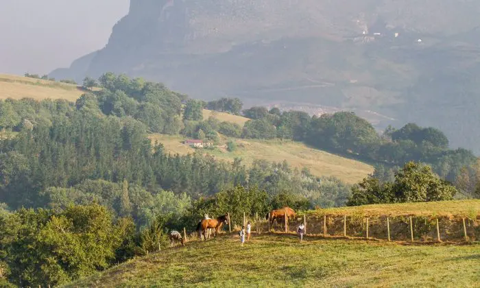
[[[125, 75], [106, 73], [95, 82], [86, 79], [88, 91], [76, 103], [0, 101], [0, 281], [5, 285], [7, 280], [24, 286], [66, 283], [158, 250], [166, 245], [167, 230], [193, 230], [204, 213], [229, 211], [239, 223], [243, 212], [264, 215], [284, 205], [304, 210], [449, 200], [457, 189], [480, 196], [475, 156], [448, 149], [448, 139], [433, 128], [409, 124], [379, 135], [350, 112], [310, 117], [276, 108], [242, 111], [238, 99], [206, 103]], [[251, 120], [244, 127], [204, 120], [205, 107]], [[150, 132], [211, 141], [219, 134], [293, 139], [369, 160], [377, 169], [350, 187], [286, 162], [256, 160], [247, 167], [241, 159], [227, 163], [202, 153], [168, 154], [147, 138]], [[398, 169], [409, 160], [429, 163], [457, 189], [429, 166], [409, 163]], [[425, 184], [406, 187], [412, 179]]]

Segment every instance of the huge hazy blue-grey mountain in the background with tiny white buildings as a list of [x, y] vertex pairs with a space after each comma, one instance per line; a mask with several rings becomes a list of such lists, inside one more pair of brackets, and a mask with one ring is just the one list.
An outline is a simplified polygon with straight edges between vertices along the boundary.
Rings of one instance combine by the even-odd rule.
[[468, 0], [132, 0], [104, 49], [50, 75], [416, 121], [479, 153], [479, 14]]

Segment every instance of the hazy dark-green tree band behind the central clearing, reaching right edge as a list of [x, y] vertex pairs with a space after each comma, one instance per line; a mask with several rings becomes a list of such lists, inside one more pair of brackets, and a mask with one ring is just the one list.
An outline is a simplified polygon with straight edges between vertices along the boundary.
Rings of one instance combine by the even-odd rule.
[[442, 178], [455, 181], [462, 168], [472, 169], [477, 157], [467, 149], [449, 149], [448, 138], [435, 128], [408, 123], [396, 130], [389, 126], [379, 134], [371, 123], [353, 112], [310, 117], [306, 112], [253, 107], [244, 112], [242, 136], [253, 139], [291, 139], [318, 149], [375, 163], [383, 169], [409, 161], [431, 165]]

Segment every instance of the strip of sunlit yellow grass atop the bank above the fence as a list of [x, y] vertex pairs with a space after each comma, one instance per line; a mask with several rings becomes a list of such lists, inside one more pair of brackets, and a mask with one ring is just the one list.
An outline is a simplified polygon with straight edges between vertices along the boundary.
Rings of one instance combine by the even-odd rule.
[[480, 200], [455, 200], [399, 204], [375, 204], [354, 207], [328, 208], [309, 211], [314, 215], [365, 215], [365, 216], [425, 216], [470, 217], [480, 216]]

